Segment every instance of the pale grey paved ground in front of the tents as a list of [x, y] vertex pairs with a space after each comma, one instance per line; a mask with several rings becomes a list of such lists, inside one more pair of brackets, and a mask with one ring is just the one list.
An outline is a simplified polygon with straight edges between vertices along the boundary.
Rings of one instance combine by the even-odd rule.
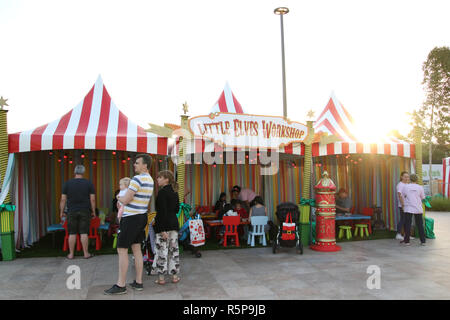
[[[145, 276], [144, 291], [105, 296], [117, 276], [117, 256], [89, 260], [33, 258], [0, 262], [0, 299], [450, 299], [450, 213], [430, 213], [435, 240], [342, 244], [342, 251], [303, 255], [270, 248], [206, 251], [200, 259], [186, 253], [178, 284], [159, 286]], [[81, 268], [81, 289], [68, 290], [67, 268]], [[381, 288], [369, 290], [367, 268], [381, 270]], [[134, 279], [134, 271], [128, 280]]]

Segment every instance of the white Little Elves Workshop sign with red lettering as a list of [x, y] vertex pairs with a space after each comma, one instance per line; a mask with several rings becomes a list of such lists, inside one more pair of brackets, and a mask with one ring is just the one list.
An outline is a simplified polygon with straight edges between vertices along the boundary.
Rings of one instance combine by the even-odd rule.
[[278, 148], [302, 142], [308, 127], [283, 117], [236, 113], [211, 113], [189, 119], [189, 129], [198, 138], [225, 147]]

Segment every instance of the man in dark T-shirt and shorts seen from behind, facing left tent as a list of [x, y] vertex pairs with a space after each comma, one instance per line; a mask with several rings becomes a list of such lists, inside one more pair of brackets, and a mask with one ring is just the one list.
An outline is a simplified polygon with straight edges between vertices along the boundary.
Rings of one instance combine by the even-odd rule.
[[83, 178], [84, 172], [84, 166], [75, 166], [75, 178], [64, 184], [59, 205], [60, 216], [63, 219], [66, 217], [64, 208], [67, 203], [67, 230], [69, 233], [69, 255], [67, 259], [74, 258], [77, 233], [80, 234], [84, 258], [89, 259], [93, 256], [89, 253], [88, 233], [91, 217], [95, 217], [95, 190], [92, 182]]

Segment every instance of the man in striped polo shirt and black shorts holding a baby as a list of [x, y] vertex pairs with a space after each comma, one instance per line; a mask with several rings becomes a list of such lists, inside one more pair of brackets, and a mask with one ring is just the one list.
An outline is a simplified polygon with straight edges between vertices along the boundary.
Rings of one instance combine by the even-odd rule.
[[144, 262], [141, 243], [145, 239], [147, 211], [153, 194], [153, 179], [149, 174], [152, 158], [147, 154], [138, 154], [134, 162], [136, 175], [131, 179], [128, 190], [123, 197], [117, 198], [125, 205], [120, 219], [117, 236], [117, 254], [119, 256], [119, 275], [117, 283], [104, 293], [108, 295], [127, 292], [125, 281], [128, 271], [128, 249], [131, 247], [136, 268], [136, 279], [130, 284], [134, 290], [143, 290], [142, 271]]

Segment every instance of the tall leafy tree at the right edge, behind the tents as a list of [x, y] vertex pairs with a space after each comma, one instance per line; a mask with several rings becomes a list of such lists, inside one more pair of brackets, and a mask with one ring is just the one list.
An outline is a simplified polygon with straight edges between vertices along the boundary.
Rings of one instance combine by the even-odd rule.
[[426, 99], [422, 107], [412, 113], [412, 120], [414, 125], [422, 128], [423, 140], [429, 143], [431, 176], [433, 140], [443, 147], [444, 152], [450, 145], [450, 48], [436, 47], [431, 50], [422, 70]]

